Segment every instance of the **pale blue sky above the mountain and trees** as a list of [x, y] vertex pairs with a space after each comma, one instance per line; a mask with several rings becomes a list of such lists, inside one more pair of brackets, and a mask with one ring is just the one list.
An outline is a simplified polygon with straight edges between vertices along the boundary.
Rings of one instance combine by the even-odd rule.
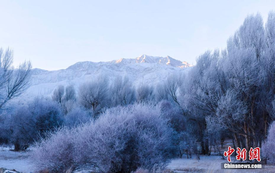
[[275, 1], [29, 1], [0, 0], [0, 47], [14, 64], [64, 69], [78, 61], [141, 54], [195, 64], [207, 49], [224, 48], [247, 14], [266, 20]]

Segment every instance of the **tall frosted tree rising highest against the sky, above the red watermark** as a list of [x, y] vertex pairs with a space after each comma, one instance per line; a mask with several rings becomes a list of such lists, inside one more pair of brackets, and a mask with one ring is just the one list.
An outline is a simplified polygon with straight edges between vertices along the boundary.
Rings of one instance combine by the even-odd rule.
[[[268, 17], [269, 26], [272, 26], [271, 16], [272, 13]], [[230, 88], [247, 107], [247, 114], [244, 115], [241, 125], [243, 130], [239, 133], [242, 135], [240, 138], [244, 137], [246, 148], [261, 146], [271, 116], [268, 107], [274, 98], [274, 92], [271, 92], [274, 81], [271, 80], [272, 67], [267, 66], [274, 63], [274, 59], [270, 59], [267, 51], [266, 38], [270, 37], [267, 37], [268, 32], [265, 31], [259, 14], [250, 15], [227, 45], [228, 59], [225, 61], [227, 66], [224, 71], [227, 73]]]

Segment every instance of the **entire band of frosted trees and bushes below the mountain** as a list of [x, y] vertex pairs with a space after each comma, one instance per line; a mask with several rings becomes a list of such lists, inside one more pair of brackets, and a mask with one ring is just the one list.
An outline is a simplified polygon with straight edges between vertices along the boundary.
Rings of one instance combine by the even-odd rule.
[[274, 163], [274, 94], [270, 12], [265, 24], [260, 14], [249, 15], [226, 49], [201, 54], [186, 76], [171, 74], [156, 86], [98, 76], [78, 88], [59, 86], [52, 98], [1, 109], [0, 137], [15, 150], [32, 146], [30, 158], [50, 172], [152, 172], [184, 154], [222, 157], [225, 139], [235, 150], [261, 147]]

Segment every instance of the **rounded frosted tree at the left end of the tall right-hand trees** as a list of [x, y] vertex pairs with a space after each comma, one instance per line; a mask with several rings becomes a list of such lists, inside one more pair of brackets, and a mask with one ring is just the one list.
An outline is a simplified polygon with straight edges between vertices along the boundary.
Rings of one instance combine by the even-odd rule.
[[206, 51], [197, 59], [197, 65], [188, 74], [187, 82], [180, 86], [180, 107], [185, 110], [188, 121], [197, 123], [198, 142], [201, 153], [208, 154], [208, 140], [205, 138], [205, 118], [214, 115], [217, 102], [224, 94], [227, 83], [221, 71], [220, 51]]

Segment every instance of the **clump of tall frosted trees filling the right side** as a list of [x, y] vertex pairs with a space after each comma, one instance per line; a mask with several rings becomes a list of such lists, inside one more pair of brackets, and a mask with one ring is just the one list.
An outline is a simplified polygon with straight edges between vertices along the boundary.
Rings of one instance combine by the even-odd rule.
[[275, 94], [274, 19], [271, 12], [264, 27], [259, 14], [249, 15], [225, 50], [206, 51], [197, 59], [180, 89], [180, 105], [200, 122], [199, 141], [211, 139], [206, 129], [218, 124], [237, 146], [261, 146]]

